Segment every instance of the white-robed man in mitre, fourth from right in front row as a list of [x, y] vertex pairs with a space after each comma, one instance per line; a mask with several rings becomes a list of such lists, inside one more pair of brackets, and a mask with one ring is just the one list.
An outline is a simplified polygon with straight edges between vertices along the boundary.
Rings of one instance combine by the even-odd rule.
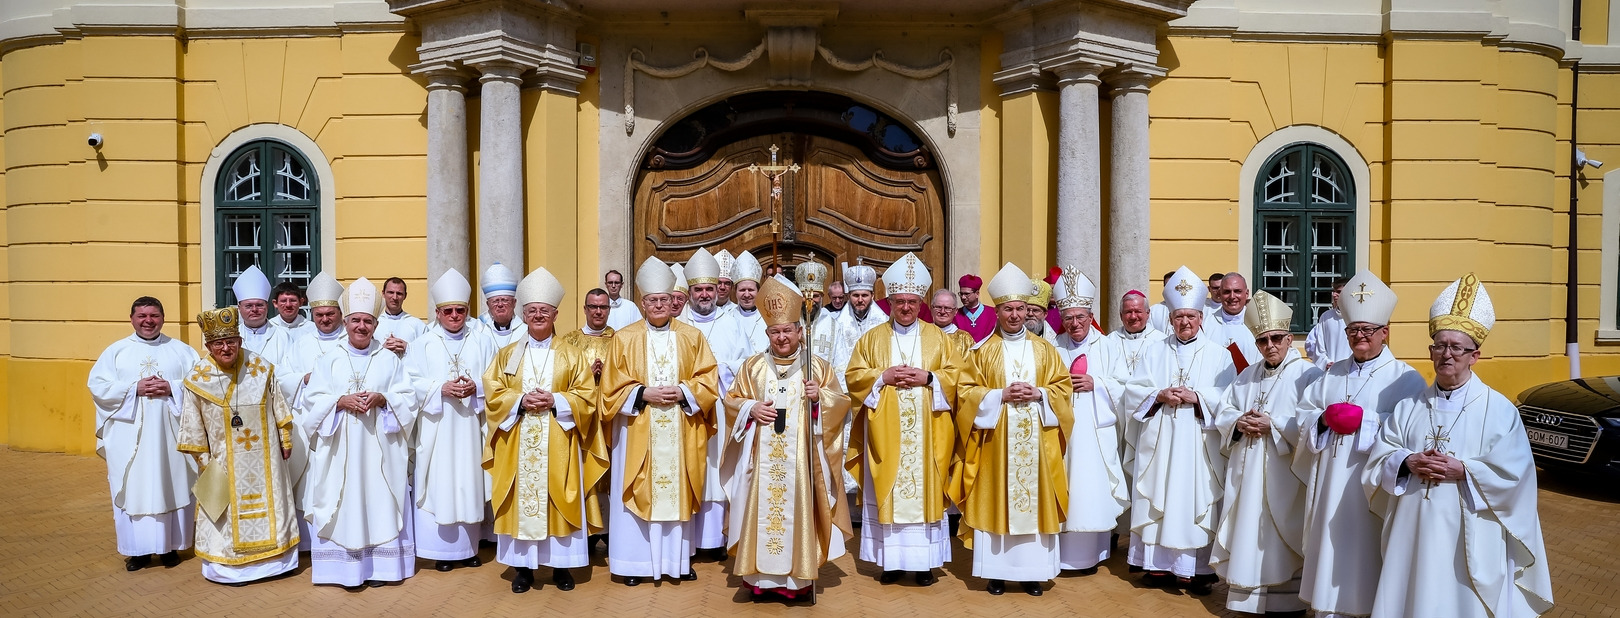
[[1176, 331], [1144, 352], [1132, 380], [1149, 386], [1131, 388], [1124, 406], [1142, 423], [1126, 563], [1147, 571], [1147, 586], [1179, 582], [1194, 595], [1215, 584], [1209, 561], [1226, 469], [1215, 418], [1236, 376], [1225, 344], [1200, 329], [1205, 290], [1186, 266], [1170, 277], [1165, 302]]

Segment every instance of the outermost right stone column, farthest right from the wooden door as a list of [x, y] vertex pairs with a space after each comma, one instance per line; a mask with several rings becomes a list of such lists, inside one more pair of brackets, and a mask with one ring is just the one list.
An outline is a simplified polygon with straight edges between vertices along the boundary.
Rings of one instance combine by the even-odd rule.
[[1108, 204], [1108, 298], [1113, 308], [1132, 287], [1152, 287], [1149, 274], [1147, 84], [1153, 76], [1121, 71], [1108, 79], [1113, 101], [1113, 169]]

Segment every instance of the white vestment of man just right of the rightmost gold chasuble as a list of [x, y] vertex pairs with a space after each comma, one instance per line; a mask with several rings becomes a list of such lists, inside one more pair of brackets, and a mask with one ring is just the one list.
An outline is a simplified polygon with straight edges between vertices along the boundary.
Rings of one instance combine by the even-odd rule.
[[1076, 360], [1084, 357], [1085, 375], [1092, 376], [1090, 393], [1074, 393], [1074, 430], [1063, 453], [1069, 474], [1069, 509], [1058, 535], [1063, 568], [1089, 569], [1113, 553], [1113, 530], [1131, 506], [1131, 488], [1119, 461], [1118, 402], [1132, 376], [1118, 342], [1095, 328], [1079, 342], [1068, 333], [1059, 334], [1056, 347], [1071, 373]]

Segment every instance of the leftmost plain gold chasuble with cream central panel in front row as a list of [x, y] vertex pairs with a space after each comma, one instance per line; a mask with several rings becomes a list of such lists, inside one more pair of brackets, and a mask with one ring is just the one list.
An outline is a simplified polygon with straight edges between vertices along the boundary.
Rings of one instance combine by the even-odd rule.
[[[586, 526], [599, 529], [601, 521], [582, 521], [583, 490], [608, 470], [608, 449], [596, 430], [591, 363], [573, 347], [530, 347], [528, 342], [523, 336], [502, 347], [484, 370], [489, 423], [484, 470], [494, 482], [489, 508], [496, 514], [496, 534], [543, 540], [567, 537]], [[559, 406], [567, 402], [572, 428], [562, 428], [552, 410], [525, 410], [509, 423], [523, 394], [536, 388], [551, 391]]]

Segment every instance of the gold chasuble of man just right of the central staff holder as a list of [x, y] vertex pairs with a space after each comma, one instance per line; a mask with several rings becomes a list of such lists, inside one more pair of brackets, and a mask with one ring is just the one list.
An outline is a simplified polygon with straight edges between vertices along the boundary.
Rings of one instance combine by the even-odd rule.
[[[889, 367], [907, 365], [932, 371], [946, 402], [956, 401], [957, 368], [962, 357], [944, 331], [919, 320], [909, 336], [894, 333], [893, 323], [860, 336], [849, 357], [846, 381], [850, 399], [865, 402]], [[872, 474], [883, 524], [925, 524], [944, 517], [944, 487], [951, 477], [956, 425], [951, 410], [933, 409], [930, 386], [897, 389], [883, 386], [876, 407], [863, 404], [854, 415], [844, 467], [865, 482]]]

